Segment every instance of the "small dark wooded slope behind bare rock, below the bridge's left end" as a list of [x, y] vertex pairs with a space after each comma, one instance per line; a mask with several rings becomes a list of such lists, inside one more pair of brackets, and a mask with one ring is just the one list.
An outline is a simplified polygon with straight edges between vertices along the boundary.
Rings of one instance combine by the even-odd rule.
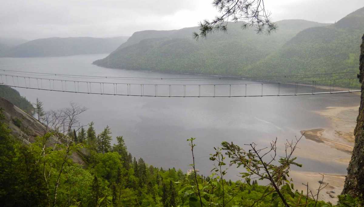
[[0, 97], [7, 99], [29, 114], [34, 113], [34, 107], [32, 103], [29, 102], [25, 97], [22, 97], [17, 90], [11, 87], [0, 86]]

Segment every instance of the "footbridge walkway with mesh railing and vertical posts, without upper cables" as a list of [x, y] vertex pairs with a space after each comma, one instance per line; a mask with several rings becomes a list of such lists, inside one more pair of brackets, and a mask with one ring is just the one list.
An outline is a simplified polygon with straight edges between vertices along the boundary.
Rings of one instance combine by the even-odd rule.
[[[72, 93], [154, 97], [257, 97], [360, 91], [354, 78], [301, 82], [246, 82], [216, 84], [117, 83], [48, 79], [0, 74], [0, 85]], [[344, 87], [343, 87], [344, 86]]]

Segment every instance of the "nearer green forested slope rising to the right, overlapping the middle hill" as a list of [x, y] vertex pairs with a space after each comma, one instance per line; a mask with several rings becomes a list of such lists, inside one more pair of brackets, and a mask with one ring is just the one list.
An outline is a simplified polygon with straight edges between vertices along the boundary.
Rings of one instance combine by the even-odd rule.
[[357, 71], [364, 8], [326, 27], [299, 32], [277, 52], [241, 74], [308, 74]]

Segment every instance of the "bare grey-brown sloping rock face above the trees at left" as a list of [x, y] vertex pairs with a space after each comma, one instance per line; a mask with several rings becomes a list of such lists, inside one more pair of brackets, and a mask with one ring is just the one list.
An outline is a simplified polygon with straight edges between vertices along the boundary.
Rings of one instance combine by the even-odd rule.
[[[19, 109], [17, 106], [9, 102], [5, 98], [0, 97], [0, 108], [2, 108], [5, 120], [8, 122], [9, 129], [12, 130], [12, 134], [19, 138], [23, 143], [30, 144], [35, 142], [37, 136], [43, 136], [46, 132], [46, 126], [41, 124], [31, 115], [27, 114], [23, 110]], [[47, 142], [46, 146], [51, 147], [56, 142], [56, 138], [51, 136]], [[86, 151], [74, 152], [71, 156], [74, 163], [84, 165], [85, 162], [79, 155], [87, 153]]]

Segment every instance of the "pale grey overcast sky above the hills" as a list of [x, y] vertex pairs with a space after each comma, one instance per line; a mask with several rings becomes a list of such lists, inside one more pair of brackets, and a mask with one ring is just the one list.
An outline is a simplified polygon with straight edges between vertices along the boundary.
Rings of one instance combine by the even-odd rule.
[[[173, 30], [211, 19], [212, 0], [0, 0], [0, 37], [130, 36]], [[364, 7], [364, 0], [265, 0], [274, 21], [333, 23]]]

